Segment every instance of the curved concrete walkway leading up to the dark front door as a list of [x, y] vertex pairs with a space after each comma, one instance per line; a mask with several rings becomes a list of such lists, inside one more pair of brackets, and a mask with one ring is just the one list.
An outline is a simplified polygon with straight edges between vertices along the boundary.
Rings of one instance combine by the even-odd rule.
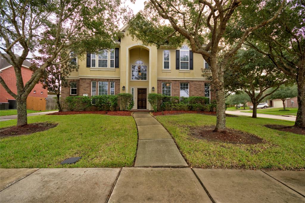
[[149, 113], [133, 114], [138, 127], [135, 167], [187, 167], [167, 130]]

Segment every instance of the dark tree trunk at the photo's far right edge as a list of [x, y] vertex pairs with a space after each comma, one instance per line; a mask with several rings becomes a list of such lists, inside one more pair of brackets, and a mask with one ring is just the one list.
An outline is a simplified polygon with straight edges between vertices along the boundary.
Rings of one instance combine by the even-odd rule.
[[298, 112], [294, 126], [305, 129], [305, 57], [300, 60], [299, 72], [296, 78], [298, 85]]

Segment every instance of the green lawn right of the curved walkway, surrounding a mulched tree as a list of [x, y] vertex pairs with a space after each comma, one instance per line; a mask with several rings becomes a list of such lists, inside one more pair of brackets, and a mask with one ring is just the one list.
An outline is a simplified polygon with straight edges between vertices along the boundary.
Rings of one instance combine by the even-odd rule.
[[305, 137], [265, 127], [265, 124], [293, 125], [293, 122], [244, 116], [227, 117], [227, 127], [252, 133], [267, 141], [263, 144], [228, 144], [206, 141], [188, 135], [188, 126], [216, 124], [216, 116], [181, 114], [156, 116], [172, 134], [182, 155], [192, 167], [283, 169], [305, 168]]

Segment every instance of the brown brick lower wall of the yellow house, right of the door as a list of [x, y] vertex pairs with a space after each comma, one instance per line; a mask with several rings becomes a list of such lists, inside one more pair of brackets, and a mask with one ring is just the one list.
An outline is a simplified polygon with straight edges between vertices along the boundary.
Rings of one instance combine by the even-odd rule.
[[[180, 96], [180, 83], [188, 83], [189, 96], [201, 96], [204, 97], [204, 84], [210, 83], [210, 81], [198, 81], [198, 80], [158, 80], [157, 93], [162, 94], [162, 82], [171, 83], [171, 96]], [[213, 87], [210, 87], [210, 100], [216, 99], [215, 91]]]

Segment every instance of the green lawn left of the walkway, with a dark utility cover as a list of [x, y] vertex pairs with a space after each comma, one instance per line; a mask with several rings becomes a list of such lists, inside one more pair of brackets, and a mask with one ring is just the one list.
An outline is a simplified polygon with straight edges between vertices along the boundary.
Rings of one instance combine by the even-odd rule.
[[[28, 123], [58, 123], [55, 128], [1, 138], [1, 168], [131, 167], [137, 149], [137, 127], [131, 116], [78, 114], [30, 116]], [[1, 127], [16, 125], [16, 119]], [[60, 165], [70, 157], [82, 158]]]

